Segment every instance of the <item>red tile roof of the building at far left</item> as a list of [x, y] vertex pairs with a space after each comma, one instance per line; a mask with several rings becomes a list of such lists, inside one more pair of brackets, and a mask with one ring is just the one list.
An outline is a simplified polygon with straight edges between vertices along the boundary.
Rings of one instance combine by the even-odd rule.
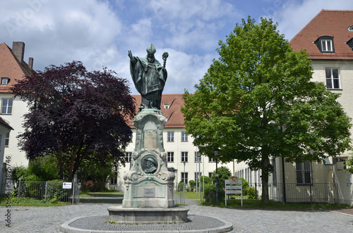
[[0, 92], [11, 93], [11, 87], [16, 84], [16, 80], [22, 80], [34, 72], [27, 63], [20, 63], [5, 43], [0, 44], [0, 77], [10, 78], [6, 86], [0, 85]]

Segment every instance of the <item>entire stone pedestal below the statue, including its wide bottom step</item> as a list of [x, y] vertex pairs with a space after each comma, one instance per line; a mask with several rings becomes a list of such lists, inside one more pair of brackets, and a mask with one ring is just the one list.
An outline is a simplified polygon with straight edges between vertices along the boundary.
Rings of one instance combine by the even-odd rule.
[[174, 173], [167, 168], [161, 111], [143, 109], [133, 120], [136, 145], [124, 174], [122, 206], [108, 208], [109, 220], [121, 223], [186, 222], [189, 208], [175, 207]]

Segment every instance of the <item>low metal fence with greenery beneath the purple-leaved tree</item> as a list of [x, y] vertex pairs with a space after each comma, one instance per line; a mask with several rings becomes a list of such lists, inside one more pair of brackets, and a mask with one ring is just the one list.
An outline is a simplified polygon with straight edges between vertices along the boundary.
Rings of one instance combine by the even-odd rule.
[[18, 198], [28, 197], [37, 200], [79, 203], [80, 189], [78, 182], [72, 182], [71, 189], [64, 187], [64, 182], [20, 181], [18, 184]]

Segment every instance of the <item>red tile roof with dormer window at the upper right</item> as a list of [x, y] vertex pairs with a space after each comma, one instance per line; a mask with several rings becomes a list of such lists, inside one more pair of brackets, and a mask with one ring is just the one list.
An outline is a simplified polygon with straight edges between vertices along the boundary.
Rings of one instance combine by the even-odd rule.
[[[306, 49], [310, 59], [353, 59], [346, 42], [353, 38], [353, 11], [322, 10], [290, 41], [294, 51]], [[333, 37], [335, 53], [324, 54], [316, 46], [318, 37]]]

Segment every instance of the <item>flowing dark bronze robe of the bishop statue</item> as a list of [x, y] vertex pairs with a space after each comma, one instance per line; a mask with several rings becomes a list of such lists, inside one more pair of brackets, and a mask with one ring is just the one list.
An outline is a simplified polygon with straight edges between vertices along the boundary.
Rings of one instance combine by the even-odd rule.
[[136, 63], [130, 61], [130, 73], [142, 97], [140, 108], [160, 109], [162, 92], [167, 81], [167, 70], [156, 59], [154, 63], [150, 63], [147, 57], [134, 58]]

